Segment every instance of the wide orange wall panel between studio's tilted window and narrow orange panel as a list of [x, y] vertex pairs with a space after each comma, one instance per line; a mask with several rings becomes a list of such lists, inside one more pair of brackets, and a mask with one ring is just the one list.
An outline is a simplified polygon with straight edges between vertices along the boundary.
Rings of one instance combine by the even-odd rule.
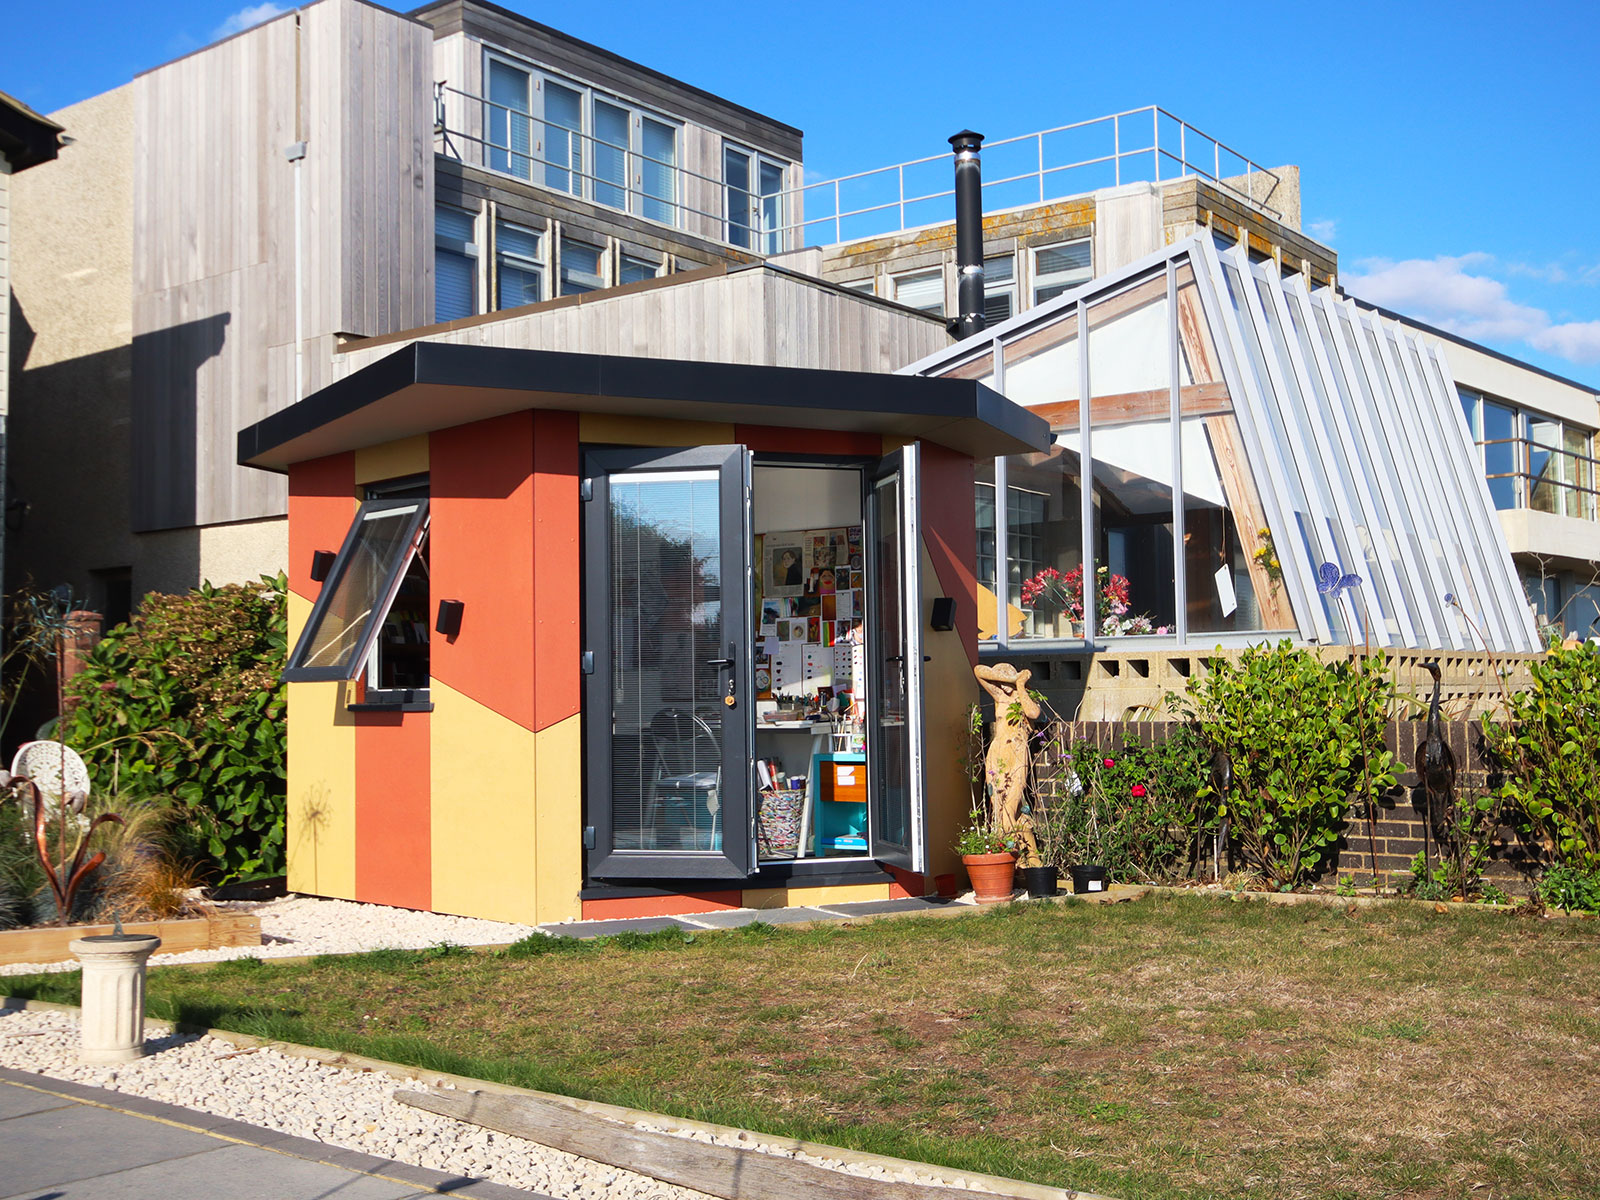
[[[429, 496], [432, 602], [464, 605], [456, 637], [432, 635], [432, 675], [536, 730], [533, 413], [430, 434]], [[576, 608], [576, 573], [565, 590]]]

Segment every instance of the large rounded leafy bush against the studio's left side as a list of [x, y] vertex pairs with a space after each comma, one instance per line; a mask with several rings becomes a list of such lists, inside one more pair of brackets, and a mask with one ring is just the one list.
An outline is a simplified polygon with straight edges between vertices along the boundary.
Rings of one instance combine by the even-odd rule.
[[173, 797], [222, 880], [283, 870], [286, 581], [149, 595], [72, 682], [66, 739], [96, 790]]

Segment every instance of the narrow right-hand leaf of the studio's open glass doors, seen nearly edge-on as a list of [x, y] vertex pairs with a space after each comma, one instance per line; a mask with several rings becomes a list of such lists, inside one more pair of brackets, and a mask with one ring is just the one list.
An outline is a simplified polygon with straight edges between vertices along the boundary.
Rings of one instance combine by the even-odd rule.
[[922, 725], [922, 534], [917, 446], [883, 458], [867, 490], [867, 802], [872, 856], [928, 869]]

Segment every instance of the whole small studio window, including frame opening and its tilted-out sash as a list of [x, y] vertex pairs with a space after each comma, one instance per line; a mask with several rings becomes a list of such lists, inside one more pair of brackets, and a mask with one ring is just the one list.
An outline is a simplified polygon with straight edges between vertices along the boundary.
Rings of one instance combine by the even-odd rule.
[[416, 493], [426, 486], [368, 493], [285, 680], [363, 677], [370, 698], [384, 701], [416, 699], [427, 688], [427, 496]]

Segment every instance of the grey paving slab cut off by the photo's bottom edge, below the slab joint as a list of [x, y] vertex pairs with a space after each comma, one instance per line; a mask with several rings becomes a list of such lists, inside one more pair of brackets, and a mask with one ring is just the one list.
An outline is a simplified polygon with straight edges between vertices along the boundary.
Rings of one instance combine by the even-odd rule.
[[[154, 1122], [150, 1122], [154, 1125]], [[342, 1171], [307, 1158], [272, 1154], [254, 1146], [229, 1146], [214, 1138], [216, 1147], [198, 1155], [162, 1158], [144, 1166], [51, 1184], [51, 1200], [293, 1200], [330, 1197], [339, 1200], [413, 1200], [429, 1195], [394, 1179]], [[99, 1157], [101, 1147], [83, 1154]], [[38, 1190], [19, 1194], [37, 1197]]]

